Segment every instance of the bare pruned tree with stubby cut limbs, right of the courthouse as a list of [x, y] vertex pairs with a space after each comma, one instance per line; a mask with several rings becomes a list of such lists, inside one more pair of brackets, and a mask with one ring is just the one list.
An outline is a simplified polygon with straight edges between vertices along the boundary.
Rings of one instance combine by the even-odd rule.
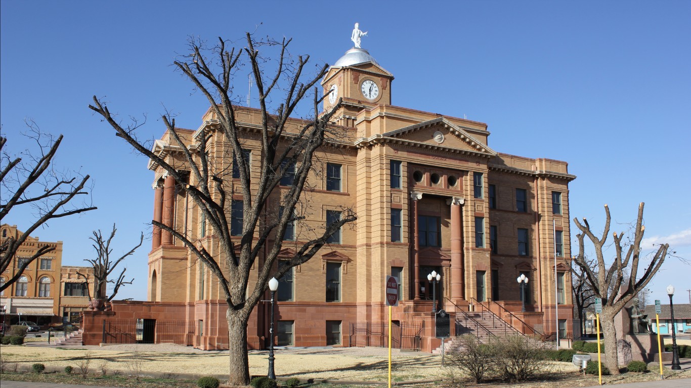
[[[630, 231], [631, 236], [624, 241], [627, 234], [624, 232], [612, 233], [616, 253], [611, 263], [605, 257], [605, 242], [609, 234], [609, 224], [612, 216], [609, 207], [605, 205], [605, 229], [602, 237], [598, 237], [591, 230], [588, 221], [584, 218], [583, 224], [574, 219], [574, 223], [580, 230], [576, 235], [578, 239], [578, 255], [574, 257], [576, 264], [585, 272], [585, 277], [591, 286], [595, 297], [602, 298], [603, 311], [600, 314], [603, 334], [605, 335], [605, 355], [607, 368], [614, 374], [619, 374], [616, 353], [616, 329], [614, 317], [625, 305], [638, 295], [650, 282], [652, 277], [660, 269], [665, 257], [668, 255], [669, 244], [661, 244], [656, 252], [641, 258], [641, 240], [645, 232], [643, 225], [643, 202], [638, 206], [638, 217]], [[596, 261], [592, 263], [585, 257], [585, 237], [593, 244]], [[623, 242], [624, 241], [624, 242]], [[638, 273], [638, 266], [643, 261], [648, 261], [642, 273]]]

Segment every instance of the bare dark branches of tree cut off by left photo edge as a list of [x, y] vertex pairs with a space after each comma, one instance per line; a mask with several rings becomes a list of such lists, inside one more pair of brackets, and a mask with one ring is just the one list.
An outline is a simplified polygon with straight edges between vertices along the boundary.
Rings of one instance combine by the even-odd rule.
[[[11, 268], [12, 259], [19, 247], [35, 230], [48, 225], [48, 221], [96, 209], [84, 203], [75, 205], [74, 201], [75, 197], [88, 194], [84, 191], [88, 175], [70, 177], [54, 168], [53, 162], [62, 142], [62, 135], [53, 140], [46, 133], [41, 133], [35, 122], [27, 120], [26, 124], [29, 127], [26, 136], [37, 144], [36, 149], [10, 154], [5, 147], [7, 138], [0, 137], [0, 164], [4, 166], [0, 170], [0, 223], [10, 215], [10, 211], [20, 207], [32, 207], [37, 219], [23, 230], [21, 236], [2, 239], [0, 273]], [[12, 214], [15, 213], [16, 211]], [[52, 250], [55, 250], [55, 246], [39, 242], [36, 252], [23, 261], [15, 275], [0, 286], [0, 291], [15, 283], [32, 261]]]

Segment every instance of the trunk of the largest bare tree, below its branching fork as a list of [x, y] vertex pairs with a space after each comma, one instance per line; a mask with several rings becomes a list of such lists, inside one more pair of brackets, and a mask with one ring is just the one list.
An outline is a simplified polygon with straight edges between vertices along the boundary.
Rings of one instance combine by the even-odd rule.
[[247, 385], [249, 382], [249, 358], [247, 357], [247, 319], [249, 315], [228, 308], [229, 385]]

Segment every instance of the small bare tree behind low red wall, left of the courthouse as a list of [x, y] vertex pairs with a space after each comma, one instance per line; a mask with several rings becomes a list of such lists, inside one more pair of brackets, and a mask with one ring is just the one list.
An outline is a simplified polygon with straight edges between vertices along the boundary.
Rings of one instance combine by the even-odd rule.
[[[122, 268], [122, 271], [120, 272], [120, 275], [117, 276], [117, 280], [113, 279], [108, 279], [108, 277], [111, 275], [111, 272], [115, 270], [118, 264], [120, 264], [120, 261], [124, 260], [125, 257], [128, 257], [134, 253], [137, 248], [142, 246], [142, 241], [144, 241], [144, 233], [142, 233], [142, 236], [139, 239], [139, 243], [137, 246], [129, 250], [129, 252], [126, 252], [124, 255], [118, 257], [115, 260], [111, 260], [111, 253], [113, 253], [113, 249], [111, 249], [111, 241], [113, 241], [113, 237], [115, 237], [115, 232], [117, 229], [115, 228], [115, 224], [113, 224], [113, 232], [111, 232], [110, 237], [108, 239], [103, 238], [103, 234], [101, 234], [101, 230], [94, 230], [93, 231], [93, 237], [89, 237], [91, 241], [93, 241], [93, 249], [96, 251], [96, 258], [95, 259], [84, 259], [84, 261], [88, 261], [89, 264], [91, 264], [91, 267], [93, 268], [93, 284], [94, 284], [94, 297], [97, 302], [97, 308], [103, 308], [103, 303], [104, 302], [111, 302], [115, 295], [117, 295], [117, 291], [120, 290], [120, 287], [122, 287], [124, 284], [132, 284], [132, 281], [134, 281], [134, 278], [130, 281], [125, 281], [125, 271], [127, 268]], [[77, 272], [77, 275], [79, 277], [82, 277], [84, 279], [84, 284], [86, 284], [86, 289], [88, 290], [88, 277], [84, 275], [82, 272]], [[111, 296], [108, 296], [107, 290], [106, 290], [106, 285], [110, 283], [113, 284], [113, 293]], [[89, 301], [91, 301], [91, 293], [88, 294]]]

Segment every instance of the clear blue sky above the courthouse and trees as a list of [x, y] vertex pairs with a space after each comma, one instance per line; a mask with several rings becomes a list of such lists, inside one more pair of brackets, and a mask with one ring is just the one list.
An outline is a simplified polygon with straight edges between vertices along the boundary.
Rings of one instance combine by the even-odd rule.
[[[117, 223], [115, 253], [130, 248], [153, 214], [153, 173], [89, 109], [91, 96], [123, 118], [148, 114], [160, 137], [167, 107], [196, 129], [207, 102], [173, 72], [196, 35], [292, 37], [292, 53], [334, 63], [363, 48], [392, 72], [393, 103], [486, 122], [493, 149], [569, 162], [571, 218], [601, 229], [634, 221], [645, 202], [647, 237], [691, 259], [691, 3], [688, 1], [7, 1], [0, 3], [0, 113], [8, 147], [24, 118], [64, 133], [60, 166], [93, 176], [98, 210], [36, 233], [64, 241], [64, 264], [93, 257], [92, 230]], [[247, 87], [247, 78], [240, 80]], [[29, 214], [3, 221], [26, 228]], [[619, 229], [625, 228], [621, 225]], [[571, 236], [575, 239], [575, 233]], [[129, 259], [146, 298], [151, 240]], [[574, 252], [575, 253], [575, 252]], [[652, 299], [688, 302], [691, 266], [670, 257]]]

